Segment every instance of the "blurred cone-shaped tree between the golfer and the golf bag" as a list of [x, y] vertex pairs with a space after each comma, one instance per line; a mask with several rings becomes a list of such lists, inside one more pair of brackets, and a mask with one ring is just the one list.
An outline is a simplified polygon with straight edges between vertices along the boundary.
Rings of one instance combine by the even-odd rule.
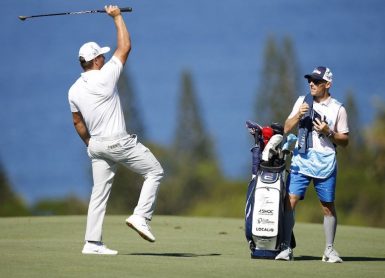
[[168, 177], [159, 194], [159, 209], [166, 214], [187, 213], [223, 179], [187, 71], [181, 75], [177, 120], [171, 150], [173, 162], [166, 169]]

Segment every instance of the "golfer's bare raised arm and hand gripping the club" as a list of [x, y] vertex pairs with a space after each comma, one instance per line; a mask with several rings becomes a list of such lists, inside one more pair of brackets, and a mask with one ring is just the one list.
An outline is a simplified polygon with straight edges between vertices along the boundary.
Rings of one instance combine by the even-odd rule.
[[117, 48], [114, 56], [117, 57], [122, 64], [126, 63], [128, 54], [131, 50], [130, 34], [128, 33], [126, 24], [118, 6], [105, 6], [107, 14], [113, 17], [117, 31]]

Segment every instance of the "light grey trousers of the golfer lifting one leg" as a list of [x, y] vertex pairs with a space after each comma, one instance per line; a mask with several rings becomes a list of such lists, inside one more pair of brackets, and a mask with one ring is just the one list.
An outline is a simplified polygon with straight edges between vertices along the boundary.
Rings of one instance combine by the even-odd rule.
[[102, 240], [103, 220], [117, 164], [144, 177], [134, 214], [151, 219], [163, 169], [151, 151], [137, 142], [136, 135], [92, 137], [87, 152], [92, 161], [94, 185], [88, 207], [85, 240]]

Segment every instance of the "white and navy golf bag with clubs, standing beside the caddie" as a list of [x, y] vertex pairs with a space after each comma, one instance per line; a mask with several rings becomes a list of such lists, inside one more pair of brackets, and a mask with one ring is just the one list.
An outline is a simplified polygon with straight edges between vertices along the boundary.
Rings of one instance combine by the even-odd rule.
[[[250, 129], [251, 122], [247, 123]], [[285, 182], [288, 173], [286, 159], [290, 152], [287, 149], [282, 150], [281, 129], [274, 130], [269, 140], [265, 140], [263, 136], [266, 133], [262, 131], [264, 128], [253, 126], [252, 129], [255, 146], [251, 149], [253, 175], [247, 190], [245, 236], [251, 258], [274, 259], [280, 252], [283, 237]], [[280, 134], [280, 137], [275, 134]], [[271, 140], [273, 143], [269, 144]], [[292, 243], [295, 246], [293, 235]]]

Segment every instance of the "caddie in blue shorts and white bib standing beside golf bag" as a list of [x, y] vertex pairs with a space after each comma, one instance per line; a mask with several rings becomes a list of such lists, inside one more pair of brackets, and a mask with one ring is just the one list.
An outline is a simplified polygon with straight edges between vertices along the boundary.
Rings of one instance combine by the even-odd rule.
[[324, 215], [326, 246], [322, 261], [342, 263], [334, 248], [337, 213], [334, 205], [337, 179], [336, 146], [349, 142], [348, 117], [344, 106], [331, 97], [333, 75], [329, 68], [317, 67], [305, 75], [310, 93], [301, 96], [285, 122], [285, 133], [298, 125], [298, 141], [294, 149], [291, 173], [287, 181], [284, 214], [284, 238], [276, 260], [292, 260], [290, 248], [294, 227], [294, 209], [305, 197], [313, 181]]

